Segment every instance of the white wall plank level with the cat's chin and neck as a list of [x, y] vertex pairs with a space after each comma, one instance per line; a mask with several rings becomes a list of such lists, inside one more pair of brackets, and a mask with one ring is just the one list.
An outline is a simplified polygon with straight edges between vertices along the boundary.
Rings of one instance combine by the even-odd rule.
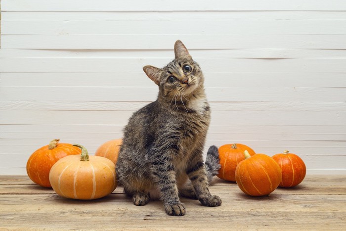
[[[4, 101], [120, 101], [150, 102], [158, 87], [0, 87]], [[209, 102], [343, 102], [345, 88], [215, 87], [206, 88]], [[179, 100], [177, 97], [174, 100]], [[174, 103], [173, 100], [173, 103]], [[342, 125], [342, 124], [340, 124]]]

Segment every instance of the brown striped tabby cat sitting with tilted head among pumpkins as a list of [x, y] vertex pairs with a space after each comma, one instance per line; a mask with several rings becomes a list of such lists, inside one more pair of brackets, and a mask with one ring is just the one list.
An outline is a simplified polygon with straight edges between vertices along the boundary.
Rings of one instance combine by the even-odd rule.
[[134, 112], [125, 127], [116, 174], [135, 205], [160, 197], [168, 215], [183, 216], [179, 195], [199, 199], [204, 206], [221, 204], [209, 192], [220, 164], [216, 146], [209, 148], [203, 163], [211, 112], [201, 68], [179, 40], [174, 53], [162, 69], [143, 67], [159, 94]]

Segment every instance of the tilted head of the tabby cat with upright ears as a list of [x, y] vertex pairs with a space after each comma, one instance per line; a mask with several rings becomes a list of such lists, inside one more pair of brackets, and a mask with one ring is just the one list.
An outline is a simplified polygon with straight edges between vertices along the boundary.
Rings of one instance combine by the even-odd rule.
[[[204, 77], [199, 65], [192, 59], [180, 40], [174, 44], [175, 58], [164, 68], [145, 66], [145, 74], [159, 86], [160, 93], [167, 97], [189, 97], [203, 89]], [[179, 96], [180, 97], [180, 96]]]

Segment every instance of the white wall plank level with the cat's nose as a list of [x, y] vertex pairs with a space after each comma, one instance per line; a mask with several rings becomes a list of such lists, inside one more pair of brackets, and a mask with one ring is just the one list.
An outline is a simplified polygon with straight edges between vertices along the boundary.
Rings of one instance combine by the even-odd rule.
[[[346, 51], [346, 50], [345, 50]], [[346, 56], [346, 52], [345, 52]], [[226, 70], [225, 70], [226, 71]], [[95, 78], [97, 76], [97, 78]], [[154, 87], [144, 72], [4, 72], [2, 87]], [[231, 87], [346, 87], [346, 73], [232, 73], [207, 72], [206, 87], [220, 87], [232, 81]], [[305, 105], [308, 106], [308, 105]]]

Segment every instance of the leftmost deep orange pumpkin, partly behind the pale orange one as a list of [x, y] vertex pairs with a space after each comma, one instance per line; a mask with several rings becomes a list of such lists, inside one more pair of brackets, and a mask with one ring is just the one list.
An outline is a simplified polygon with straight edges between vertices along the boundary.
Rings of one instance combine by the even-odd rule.
[[70, 143], [59, 143], [59, 139], [53, 139], [34, 151], [26, 164], [26, 171], [29, 178], [38, 185], [51, 187], [49, 183], [50, 168], [59, 159], [67, 155], [81, 154], [81, 149], [73, 147]]

